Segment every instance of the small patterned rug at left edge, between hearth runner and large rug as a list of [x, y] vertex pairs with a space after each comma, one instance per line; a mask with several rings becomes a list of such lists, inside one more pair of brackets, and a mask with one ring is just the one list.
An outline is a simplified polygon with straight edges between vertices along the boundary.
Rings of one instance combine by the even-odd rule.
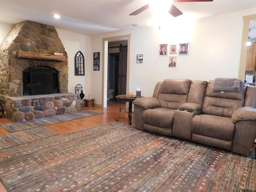
[[58, 133], [44, 127], [8, 133], [0, 136], [0, 150], [54, 135], [58, 135]]

